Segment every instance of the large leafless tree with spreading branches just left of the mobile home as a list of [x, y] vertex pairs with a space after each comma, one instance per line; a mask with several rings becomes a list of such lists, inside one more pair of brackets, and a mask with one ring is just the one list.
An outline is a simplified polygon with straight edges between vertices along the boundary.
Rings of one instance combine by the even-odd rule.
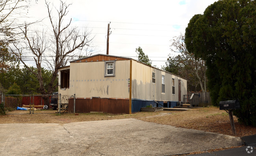
[[[48, 9], [48, 19], [50, 20], [52, 31], [50, 35], [47, 35], [44, 31], [39, 34], [37, 32], [34, 35], [29, 35], [29, 25], [26, 24], [25, 28], [21, 28], [25, 39], [26, 50], [33, 54], [33, 59], [37, 66], [37, 72], [32, 71], [26, 64], [25, 57], [23, 57], [23, 51], [19, 48], [20, 43], [14, 44], [15, 50], [12, 50], [20, 62], [24, 64], [30, 72], [37, 76], [39, 80], [39, 90], [41, 94], [52, 94], [57, 84], [54, 81], [58, 78], [58, 68], [66, 66], [67, 62], [74, 57], [74, 52], [83, 50], [90, 46], [93, 38], [90, 38], [90, 32], [85, 30], [80, 32], [77, 28], [70, 26], [72, 19], [67, 24], [64, 24], [64, 17], [68, 14], [68, 8], [71, 4], [66, 4], [60, 0], [59, 7], [54, 7], [50, 2], [46, 2]], [[51, 8], [54, 8], [52, 10]], [[53, 11], [57, 11], [58, 18], [54, 20]], [[49, 59], [49, 56], [50, 59]], [[47, 57], [47, 58], [46, 58]], [[43, 84], [42, 77], [42, 63], [47, 64], [48, 68], [52, 70], [51, 81], [49, 84]], [[47, 98], [45, 98], [47, 101]], [[47, 103], [46, 103], [47, 104]]]

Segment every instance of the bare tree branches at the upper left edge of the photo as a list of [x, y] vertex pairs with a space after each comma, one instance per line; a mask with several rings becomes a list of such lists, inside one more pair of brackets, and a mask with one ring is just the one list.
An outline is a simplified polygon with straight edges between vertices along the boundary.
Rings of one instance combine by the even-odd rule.
[[20, 26], [18, 17], [25, 14], [29, 0], [0, 0], [0, 72], [19, 64], [19, 61], [8, 50], [8, 45], [20, 35], [16, 31]]

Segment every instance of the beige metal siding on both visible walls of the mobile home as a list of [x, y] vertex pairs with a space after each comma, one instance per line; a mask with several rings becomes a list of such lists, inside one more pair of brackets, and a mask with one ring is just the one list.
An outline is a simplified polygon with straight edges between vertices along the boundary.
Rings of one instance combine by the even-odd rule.
[[[76, 97], [129, 98], [130, 60], [115, 61], [115, 77], [104, 77], [105, 62], [70, 63], [70, 87], [59, 93]], [[156, 83], [152, 83], [152, 72]], [[61, 77], [59, 71], [59, 78]], [[165, 93], [161, 93], [161, 75], [165, 75]], [[175, 94], [172, 94], [172, 78]], [[132, 60], [132, 99], [178, 101], [178, 79], [181, 80], [181, 100], [187, 94], [187, 80]], [[60, 84], [60, 79], [59, 79]]]

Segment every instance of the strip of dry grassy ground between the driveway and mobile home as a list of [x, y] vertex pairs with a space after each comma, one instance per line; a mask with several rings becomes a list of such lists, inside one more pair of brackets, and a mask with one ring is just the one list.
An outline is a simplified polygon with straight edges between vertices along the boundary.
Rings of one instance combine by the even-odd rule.
[[[196, 108], [188, 111], [138, 112], [134, 114], [80, 113], [74, 114], [33, 114], [0, 116], [0, 123], [73, 123], [135, 118], [142, 121], [160, 123], [181, 128], [203, 130], [234, 136], [228, 114], [215, 107]], [[256, 127], [238, 123], [234, 116], [237, 137], [256, 134]]]

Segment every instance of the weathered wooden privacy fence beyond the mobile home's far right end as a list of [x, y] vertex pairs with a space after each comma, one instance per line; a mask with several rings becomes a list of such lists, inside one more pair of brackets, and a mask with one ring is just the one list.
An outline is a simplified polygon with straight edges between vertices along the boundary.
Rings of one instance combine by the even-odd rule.
[[203, 107], [203, 106], [210, 106], [211, 105], [211, 97], [210, 97], [210, 92], [187, 92], [188, 97], [190, 98], [192, 94], [199, 94], [198, 100], [198, 106]]

